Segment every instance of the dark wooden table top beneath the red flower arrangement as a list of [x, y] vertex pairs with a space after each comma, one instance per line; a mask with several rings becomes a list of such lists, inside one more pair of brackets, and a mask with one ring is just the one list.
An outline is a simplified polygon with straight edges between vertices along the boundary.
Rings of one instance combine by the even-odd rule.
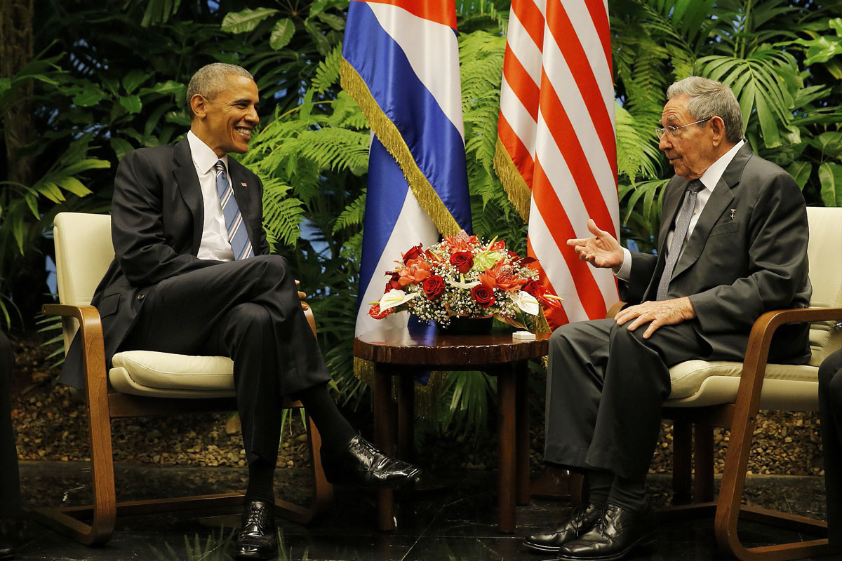
[[514, 363], [543, 357], [549, 333], [536, 339], [513, 339], [511, 333], [490, 335], [413, 335], [407, 330], [368, 331], [354, 338], [354, 357], [375, 363], [421, 366], [471, 366]]

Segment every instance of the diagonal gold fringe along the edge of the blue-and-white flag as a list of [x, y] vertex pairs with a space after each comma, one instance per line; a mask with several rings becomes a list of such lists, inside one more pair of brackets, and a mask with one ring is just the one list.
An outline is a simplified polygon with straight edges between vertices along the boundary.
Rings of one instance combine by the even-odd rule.
[[392, 119], [389, 119], [383, 113], [362, 77], [344, 59], [339, 66], [339, 77], [344, 90], [362, 108], [365, 119], [368, 120], [371, 130], [377, 135], [377, 139], [381, 141], [386, 150], [395, 158], [397, 165], [401, 167], [403, 177], [406, 177], [409, 188], [413, 190], [415, 198], [418, 199], [418, 204], [429, 214], [435, 227], [444, 236], [453, 236], [458, 233], [461, 227], [453, 218], [453, 214], [450, 214], [450, 210], [441, 201], [439, 193], [435, 192], [427, 177], [424, 177], [424, 172], [421, 172], [418, 167], [400, 131], [392, 123]]

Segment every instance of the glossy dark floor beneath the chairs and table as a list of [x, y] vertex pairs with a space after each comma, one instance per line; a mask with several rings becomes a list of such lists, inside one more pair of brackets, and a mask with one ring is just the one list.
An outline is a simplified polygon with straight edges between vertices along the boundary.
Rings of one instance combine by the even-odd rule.
[[[119, 466], [120, 500], [148, 499], [170, 492], [209, 493], [242, 489], [245, 471], [237, 468], [157, 468]], [[90, 500], [88, 464], [30, 462], [21, 466], [27, 505], [77, 505]], [[496, 475], [486, 472], [446, 474], [438, 490], [418, 493], [414, 508], [396, 512], [397, 529], [374, 529], [374, 496], [361, 490], [338, 489], [333, 508], [319, 521], [300, 526], [282, 519], [282, 561], [299, 559], [353, 561], [538, 561], [548, 556], [528, 553], [521, 537], [552, 526], [569, 510], [563, 503], [533, 500], [518, 507], [514, 535], [497, 531]], [[307, 474], [284, 470], [277, 478], [279, 494], [306, 496]], [[653, 477], [656, 500], [667, 496], [669, 479]], [[823, 482], [817, 478], [749, 478], [747, 497], [753, 504], [774, 506], [805, 516], [822, 517]], [[236, 515], [182, 512], [125, 516], [114, 537], [102, 548], [87, 548], [61, 537], [38, 522], [24, 519], [19, 529], [20, 559], [189, 560], [229, 559], [228, 540], [238, 526]], [[761, 545], [808, 538], [797, 533], [746, 523], [743, 542]], [[717, 560], [711, 521], [665, 521], [661, 538], [630, 559]], [[842, 555], [822, 559], [842, 560]]]

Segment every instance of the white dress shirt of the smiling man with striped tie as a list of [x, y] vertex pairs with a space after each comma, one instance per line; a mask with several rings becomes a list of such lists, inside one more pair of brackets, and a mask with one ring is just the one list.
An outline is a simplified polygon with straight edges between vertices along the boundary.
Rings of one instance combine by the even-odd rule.
[[[193, 167], [195, 167], [196, 175], [199, 176], [205, 208], [202, 241], [199, 244], [197, 257], [216, 261], [233, 261], [234, 251], [228, 239], [228, 229], [225, 227], [225, 215], [222, 214], [222, 203], [219, 199], [219, 191], [216, 190], [216, 170], [214, 169], [216, 162], [221, 160], [225, 164], [227, 175], [228, 155], [216, 156], [210, 146], [194, 135], [192, 130], [187, 133], [187, 141], [190, 145], [190, 154], [193, 156]], [[230, 182], [231, 179], [229, 178], [228, 181]]]

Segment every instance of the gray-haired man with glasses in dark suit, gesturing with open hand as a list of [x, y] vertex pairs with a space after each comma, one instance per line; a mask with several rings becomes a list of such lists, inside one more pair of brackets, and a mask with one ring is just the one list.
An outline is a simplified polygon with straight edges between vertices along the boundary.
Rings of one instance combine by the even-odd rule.
[[[630, 305], [550, 339], [545, 459], [584, 474], [589, 505], [525, 545], [566, 561], [619, 559], [656, 537], [644, 483], [669, 367], [742, 361], [759, 315], [807, 307], [812, 293], [801, 190], [745, 144], [731, 90], [690, 77], [667, 98], [658, 147], [675, 176], [663, 193], [658, 255], [622, 248], [592, 220], [594, 237], [568, 241], [583, 261], [614, 269]], [[806, 362], [807, 325], [778, 331], [772, 348], [775, 362]]]

